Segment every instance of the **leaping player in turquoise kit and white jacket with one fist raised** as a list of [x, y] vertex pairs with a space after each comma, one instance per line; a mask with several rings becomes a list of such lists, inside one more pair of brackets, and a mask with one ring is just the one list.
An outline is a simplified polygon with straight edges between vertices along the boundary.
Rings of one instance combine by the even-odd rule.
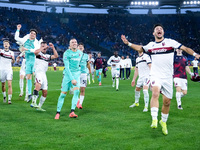
[[15, 32], [15, 40], [19, 45], [23, 45], [22, 51], [26, 50], [25, 58], [26, 58], [26, 76], [27, 76], [27, 85], [28, 85], [28, 101], [31, 101], [31, 93], [32, 93], [32, 74], [34, 72], [34, 64], [35, 64], [35, 50], [40, 48], [40, 43], [42, 40], [38, 41], [36, 39], [37, 30], [31, 29], [30, 34], [27, 34], [23, 38], [19, 37], [19, 32], [21, 29], [21, 24], [17, 25], [17, 31]]

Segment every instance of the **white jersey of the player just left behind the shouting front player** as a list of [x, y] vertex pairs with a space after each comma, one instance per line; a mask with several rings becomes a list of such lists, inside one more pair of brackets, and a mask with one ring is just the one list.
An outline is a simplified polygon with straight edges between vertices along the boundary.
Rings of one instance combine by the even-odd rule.
[[149, 76], [150, 68], [148, 64], [151, 64], [151, 58], [147, 54], [142, 54], [136, 59], [136, 68], [138, 68], [139, 78]]

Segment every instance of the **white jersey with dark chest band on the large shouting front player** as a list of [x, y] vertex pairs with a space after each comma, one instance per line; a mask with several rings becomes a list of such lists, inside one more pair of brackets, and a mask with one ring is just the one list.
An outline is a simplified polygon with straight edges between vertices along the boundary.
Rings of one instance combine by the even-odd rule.
[[143, 46], [143, 50], [151, 54], [152, 65], [150, 75], [159, 78], [172, 78], [174, 72], [174, 51], [180, 47], [180, 43], [168, 38], [161, 42], [150, 42]]

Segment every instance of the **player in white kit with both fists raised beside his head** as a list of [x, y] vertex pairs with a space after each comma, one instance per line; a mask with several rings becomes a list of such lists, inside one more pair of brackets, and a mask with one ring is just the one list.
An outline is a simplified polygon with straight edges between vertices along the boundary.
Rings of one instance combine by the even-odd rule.
[[[46, 72], [48, 70], [48, 63], [52, 59], [58, 58], [58, 53], [52, 43], [49, 43], [49, 47], [53, 50], [53, 55], [46, 54], [48, 46], [47, 42], [41, 43], [42, 51], [36, 54], [35, 60], [35, 89], [33, 91], [31, 107], [37, 108], [40, 111], [46, 111], [42, 109], [42, 105], [47, 97], [48, 81]], [[42, 90], [40, 102], [37, 105], [36, 101], [39, 97], [39, 91]]]

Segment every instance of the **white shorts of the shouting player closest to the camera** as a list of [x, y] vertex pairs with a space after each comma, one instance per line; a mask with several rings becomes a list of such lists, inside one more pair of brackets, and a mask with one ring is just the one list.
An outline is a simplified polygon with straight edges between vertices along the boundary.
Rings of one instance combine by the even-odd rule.
[[173, 78], [150, 78], [151, 86], [158, 86], [163, 95], [172, 99], [173, 97]]

